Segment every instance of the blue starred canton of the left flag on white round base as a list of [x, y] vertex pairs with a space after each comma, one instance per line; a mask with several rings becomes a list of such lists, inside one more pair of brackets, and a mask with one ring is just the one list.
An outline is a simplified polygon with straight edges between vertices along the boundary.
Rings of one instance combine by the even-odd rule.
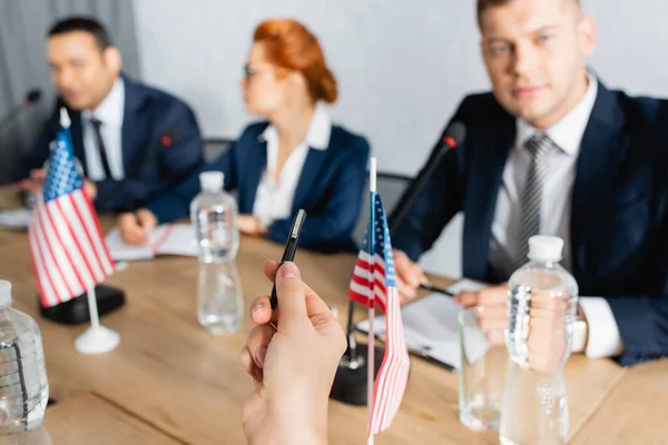
[[81, 187], [84, 180], [77, 171], [69, 129], [62, 128], [58, 132], [56, 148], [49, 158], [49, 171], [43, 186], [45, 202], [71, 194]]

